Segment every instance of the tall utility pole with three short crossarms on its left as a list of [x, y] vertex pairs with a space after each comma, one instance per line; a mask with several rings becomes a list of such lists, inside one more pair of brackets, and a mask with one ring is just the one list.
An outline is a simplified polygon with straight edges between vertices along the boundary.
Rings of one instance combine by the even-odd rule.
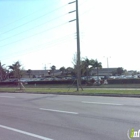
[[69, 22], [76, 20], [76, 30], [77, 30], [77, 91], [79, 91], [79, 86], [81, 86], [81, 68], [80, 68], [80, 34], [79, 34], [79, 13], [78, 13], [78, 0], [70, 2], [69, 4], [76, 2], [76, 10], [71, 11], [69, 13], [73, 13], [76, 11], [76, 19], [71, 20]]

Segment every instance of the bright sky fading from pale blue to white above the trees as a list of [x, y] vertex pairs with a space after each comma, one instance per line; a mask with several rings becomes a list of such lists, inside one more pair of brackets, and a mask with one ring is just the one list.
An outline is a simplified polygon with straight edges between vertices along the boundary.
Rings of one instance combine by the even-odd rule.
[[[0, 0], [0, 61], [24, 69], [73, 67], [77, 51], [71, 0]], [[78, 0], [81, 58], [103, 68], [140, 71], [140, 1]], [[108, 59], [108, 65], [107, 65]]]

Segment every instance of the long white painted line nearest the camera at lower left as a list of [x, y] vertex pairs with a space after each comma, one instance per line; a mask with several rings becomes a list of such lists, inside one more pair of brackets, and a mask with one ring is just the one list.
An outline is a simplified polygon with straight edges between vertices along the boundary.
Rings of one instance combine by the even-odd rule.
[[29, 132], [26, 132], [26, 131], [22, 131], [22, 130], [15, 129], [15, 128], [8, 127], [8, 126], [4, 126], [4, 125], [0, 125], [0, 127], [4, 128], [4, 129], [7, 129], [7, 130], [14, 131], [14, 132], [18, 132], [18, 133], [21, 133], [21, 134], [24, 134], [24, 135], [35, 137], [35, 138], [38, 138], [38, 139], [42, 139], [42, 140], [53, 140], [53, 139], [50, 139], [50, 138], [46, 138], [46, 137], [43, 137], [43, 136], [40, 136], [40, 135], [36, 135], [36, 134], [33, 134], [33, 133], [29, 133]]

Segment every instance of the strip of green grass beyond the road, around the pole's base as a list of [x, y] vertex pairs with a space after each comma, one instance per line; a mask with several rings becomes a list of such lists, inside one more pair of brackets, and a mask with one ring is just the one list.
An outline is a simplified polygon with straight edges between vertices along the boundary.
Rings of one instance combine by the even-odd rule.
[[0, 92], [27, 92], [27, 93], [63, 93], [63, 94], [139, 94], [140, 89], [104, 89], [104, 88], [84, 88], [82, 91], [76, 91], [76, 88], [25, 88], [19, 90], [17, 87], [0, 88]]

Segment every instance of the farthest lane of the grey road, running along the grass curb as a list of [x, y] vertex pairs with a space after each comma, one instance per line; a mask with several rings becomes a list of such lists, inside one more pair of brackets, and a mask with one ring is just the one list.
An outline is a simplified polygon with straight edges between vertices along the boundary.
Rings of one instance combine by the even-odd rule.
[[116, 103], [125, 105], [140, 106], [139, 98], [126, 98], [126, 97], [103, 97], [103, 96], [77, 96], [77, 95], [55, 95], [55, 94], [31, 94], [31, 93], [0, 93], [0, 99], [7, 97], [18, 98], [21, 100], [52, 100], [52, 101], [63, 101], [63, 102], [105, 102], [105, 103]]

